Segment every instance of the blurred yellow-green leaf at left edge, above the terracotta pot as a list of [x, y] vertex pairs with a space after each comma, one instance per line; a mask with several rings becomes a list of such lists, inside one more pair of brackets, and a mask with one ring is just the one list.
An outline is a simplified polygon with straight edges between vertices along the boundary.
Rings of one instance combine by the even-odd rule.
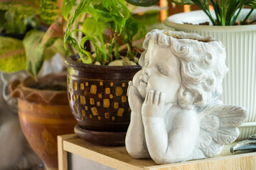
[[11, 73], [24, 69], [26, 55], [22, 41], [0, 36], [0, 70]]

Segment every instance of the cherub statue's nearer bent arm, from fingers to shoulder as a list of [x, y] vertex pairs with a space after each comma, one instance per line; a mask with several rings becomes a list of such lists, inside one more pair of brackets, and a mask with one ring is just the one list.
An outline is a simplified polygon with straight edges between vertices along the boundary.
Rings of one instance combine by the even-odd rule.
[[[169, 113], [166, 113], [168, 108], [161, 103], [164, 102], [163, 96], [159, 92], [149, 91], [143, 103], [146, 145], [151, 158], [158, 164], [181, 162], [192, 154], [196, 145], [199, 131], [197, 115], [185, 112], [173, 117], [166, 116]], [[166, 125], [168, 122], [172, 123]]]

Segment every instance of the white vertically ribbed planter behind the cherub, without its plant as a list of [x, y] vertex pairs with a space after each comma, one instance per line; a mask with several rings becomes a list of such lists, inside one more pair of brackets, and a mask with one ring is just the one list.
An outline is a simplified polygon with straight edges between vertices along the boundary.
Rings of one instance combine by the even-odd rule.
[[[250, 9], [243, 9], [238, 21], [244, 18], [249, 11]], [[249, 19], [253, 18], [256, 18], [256, 11]], [[249, 111], [246, 122], [240, 127], [238, 138], [238, 140], [244, 140], [256, 133], [256, 25], [196, 26], [183, 24], [198, 24], [206, 21], [210, 22], [203, 11], [191, 11], [169, 16], [164, 24], [174, 30], [198, 33], [223, 42], [227, 53], [226, 65], [230, 71], [223, 80], [223, 94], [219, 99], [223, 103], [243, 106]]]

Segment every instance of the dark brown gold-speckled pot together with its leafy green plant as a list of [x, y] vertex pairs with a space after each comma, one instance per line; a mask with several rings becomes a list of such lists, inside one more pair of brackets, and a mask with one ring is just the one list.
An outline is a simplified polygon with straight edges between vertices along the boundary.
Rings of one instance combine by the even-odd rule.
[[[75, 1], [64, 4], [73, 6]], [[77, 20], [82, 26], [75, 29]], [[78, 33], [83, 35], [80, 40]], [[131, 17], [123, 0], [81, 0], [70, 16], [64, 40], [78, 55], [65, 60], [68, 98], [78, 120], [75, 133], [82, 139], [96, 145], [124, 145], [130, 119], [128, 82], [141, 69], [135, 64], [137, 52], [132, 41], [145, 33], [144, 25]], [[84, 47], [86, 41], [91, 42], [95, 53]], [[126, 52], [119, 52], [120, 44], [127, 45]]]

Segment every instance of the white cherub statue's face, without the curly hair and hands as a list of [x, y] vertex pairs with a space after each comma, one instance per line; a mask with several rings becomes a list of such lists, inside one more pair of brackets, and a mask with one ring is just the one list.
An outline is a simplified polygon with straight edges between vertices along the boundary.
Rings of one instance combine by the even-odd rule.
[[166, 102], [176, 102], [181, 86], [180, 62], [168, 47], [149, 42], [137, 89], [145, 98], [150, 90], [164, 92]]

